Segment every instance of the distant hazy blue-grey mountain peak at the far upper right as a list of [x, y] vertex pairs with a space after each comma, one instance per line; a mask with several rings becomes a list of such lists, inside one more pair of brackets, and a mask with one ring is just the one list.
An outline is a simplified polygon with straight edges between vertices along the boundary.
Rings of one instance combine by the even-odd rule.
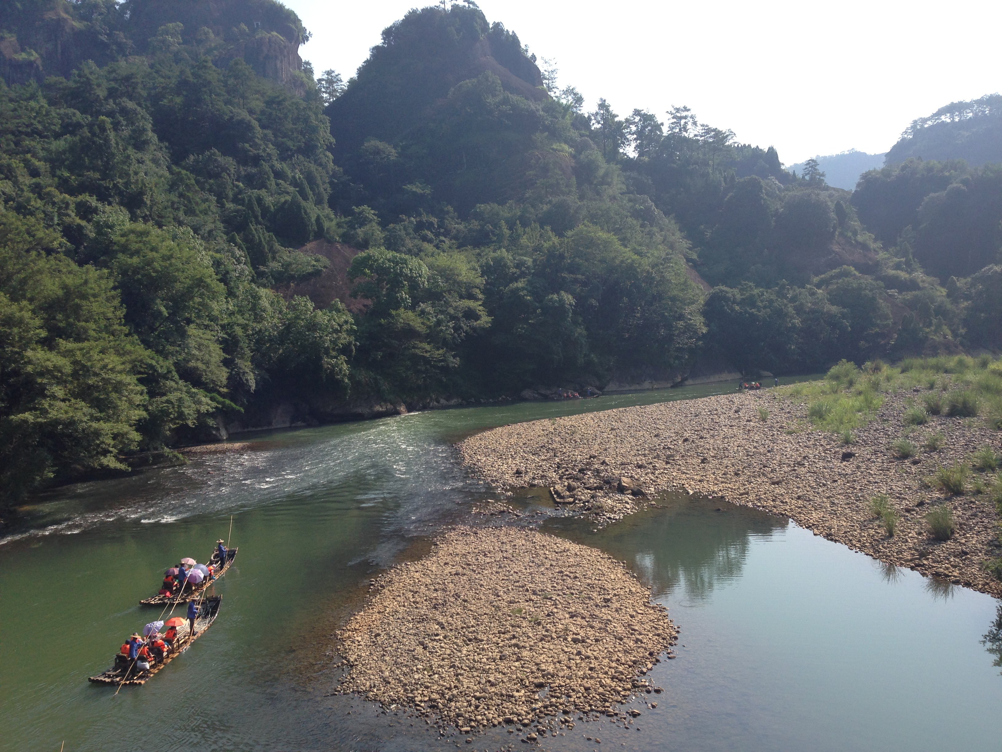
[[1002, 163], [1002, 95], [951, 102], [928, 117], [913, 120], [888, 151], [887, 163], [900, 164], [913, 157], [964, 159], [972, 167]]

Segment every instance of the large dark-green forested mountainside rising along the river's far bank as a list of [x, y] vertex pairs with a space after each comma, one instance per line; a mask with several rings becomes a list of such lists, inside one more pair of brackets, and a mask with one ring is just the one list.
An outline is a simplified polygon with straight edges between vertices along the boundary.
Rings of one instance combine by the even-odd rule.
[[1002, 344], [994, 167], [852, 195], [685, 107], [585, 112], [472, 5], [347, 85], [273, 0], [16, 0], [0, 35], [8, 501], [280, 405]]

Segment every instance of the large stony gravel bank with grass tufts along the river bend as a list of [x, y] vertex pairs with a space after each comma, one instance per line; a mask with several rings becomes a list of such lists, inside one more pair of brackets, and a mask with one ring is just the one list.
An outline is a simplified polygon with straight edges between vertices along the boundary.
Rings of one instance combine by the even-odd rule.
[[[658, 493], [685, 490], [789, 516], [875, 558], [1002, 597], [1002, 583], [984, 569], [1002, 555], [991, 500], [946, 496], [926, 481], [986, 444], [998, 450], [999, 436], [978, 420], [930, 416], [913, 440], [942, 433], [942, 446], [898, 459], [890, 444], [907, 430], [902, 416], [912, 396], [887, 395], [851, 446], [814, 430], [807, 405], [764, 390], [518, 423], [457, 447], [498, 490], [550, 487], [596, 526]], [[899, 514], [894, 536], [871, 510], [879, 493]], [[950, 540], [929, 534], [925, 514], [936, 503], [953, 511]]]

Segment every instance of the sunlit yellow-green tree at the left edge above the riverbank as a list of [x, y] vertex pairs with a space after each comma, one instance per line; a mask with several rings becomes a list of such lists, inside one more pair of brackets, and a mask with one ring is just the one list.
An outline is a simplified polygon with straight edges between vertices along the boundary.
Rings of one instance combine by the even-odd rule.
[[124, 467], [144, 416], [144, 354], [111, 279], [0, 213], [0, 501], [49, 477]]

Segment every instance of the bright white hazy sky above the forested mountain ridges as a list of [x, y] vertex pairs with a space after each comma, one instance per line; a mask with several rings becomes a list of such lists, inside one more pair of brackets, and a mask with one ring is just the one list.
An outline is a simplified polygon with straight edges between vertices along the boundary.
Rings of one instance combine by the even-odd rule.
[[[347, 80], [406, 0], [285, 0], [318, 72]], [[916, 117], [1002, 90], [1002, 3], [478, 0], [490, 21], [553, 59], [560, 84], [620, 115], [686, 104], [700, 121], [775, 145], [792, 164], [886, 151]], [[662, 118], [663, 119], [663, 118]]]

